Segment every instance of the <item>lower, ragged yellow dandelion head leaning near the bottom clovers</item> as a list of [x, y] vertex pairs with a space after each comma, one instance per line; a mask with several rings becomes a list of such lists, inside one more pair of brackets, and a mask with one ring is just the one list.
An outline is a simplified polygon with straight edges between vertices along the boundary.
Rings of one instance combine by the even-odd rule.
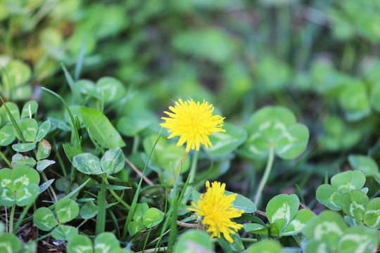
[[206, 193], [201, 195], [201, 200], [198, 200], [198, 205], [191, 202], [194, 208], [189, 210], [197, 212], [196, 216], [203, 216], [202, 223], [207, 225], [207, 232], [212, 233], [211, 238], [220, 238], [220, 233], [223, 233], [224, 238], [229, 242], [234, 242], [230, 234], [239, 231], [243, 225], [231, 221], [232, 218], [240, 217], [244, 211], [232, 207], [236, 193], [232, 195], [224, 195], [225, 183], [220, 185], [220, 182], [213, 182], [210, 187], [210, 182], [206, 182]]

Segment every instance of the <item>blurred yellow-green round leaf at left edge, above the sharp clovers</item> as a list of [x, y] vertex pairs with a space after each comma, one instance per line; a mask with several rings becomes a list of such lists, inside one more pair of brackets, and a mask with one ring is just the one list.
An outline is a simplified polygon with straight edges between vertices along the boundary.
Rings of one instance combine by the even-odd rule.
[[30, 67], [20, 60], [11, 60], [1, 71], [3, 85], [13, 88], [27, 82], [31, 75]]

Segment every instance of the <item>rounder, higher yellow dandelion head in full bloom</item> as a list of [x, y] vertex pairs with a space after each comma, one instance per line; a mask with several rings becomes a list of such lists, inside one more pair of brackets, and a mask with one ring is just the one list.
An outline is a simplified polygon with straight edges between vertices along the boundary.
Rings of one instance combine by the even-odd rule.
[[206, 148], [210, 145], [213, 148], [208, 136], [213, 132], [225, 131], [222, 129], [223, 119], [219, 115], [213, 115], [214, 107], [203, 100], [203, 103], [195, 103], [194, 100], [175, 102], [175, 107], [170, 106], [172, 112], [165, 112], [169, 117], [162, 117], [165, 123], [161, 126], [169, 129], [167, 138], [179, 137], [177, 146], [182, 146], [187, 141], [186, 152], [190, 148], [199, 150], [200, 143]]

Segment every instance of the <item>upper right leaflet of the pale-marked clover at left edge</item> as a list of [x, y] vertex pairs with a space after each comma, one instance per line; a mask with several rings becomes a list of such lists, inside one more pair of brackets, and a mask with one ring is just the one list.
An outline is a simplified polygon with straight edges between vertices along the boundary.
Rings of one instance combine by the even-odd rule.
[[11, 180], [15, 186], [15, 190], [21, 190], [31, 183], [39, 183], [39, 174], [35, 169], [27, 166], [18, 166], [13, 168]]

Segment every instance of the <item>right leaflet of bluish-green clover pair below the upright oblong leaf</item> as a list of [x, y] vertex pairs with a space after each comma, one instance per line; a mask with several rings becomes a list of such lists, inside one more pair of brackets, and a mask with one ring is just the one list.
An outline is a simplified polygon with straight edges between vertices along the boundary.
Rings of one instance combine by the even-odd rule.
[[119, 147], [106, 151], [101, 157], [101, 168], [107, 174], [115, 174], [124, 168], [125, 157]]

